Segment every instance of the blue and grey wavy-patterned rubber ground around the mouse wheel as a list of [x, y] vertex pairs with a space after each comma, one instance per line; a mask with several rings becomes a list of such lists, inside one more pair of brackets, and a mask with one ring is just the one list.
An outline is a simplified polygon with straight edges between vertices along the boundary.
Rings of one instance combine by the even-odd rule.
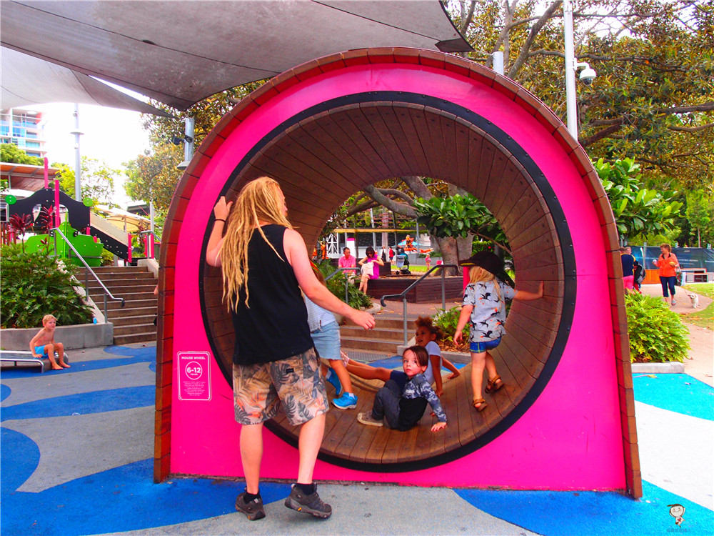
[[[75, 351], [71, 369], [44, 374], [2, 369], [2, 535], [714, 534], [714, 389], [686, 374], [633, 379], [641, 500], [616, 492], [321, 484], [335, 513], [318, 521], [283, 507], [288, 484], [263, 482], [268, 517], [251, 523], [233, 510], [241, 482], [154, 484], [155, 351], [106, 347], [88, 350], [86, 360]], [[401, 366], [399, 358], [372, 364]], [[685, 508], [681, 525], [670, 515], [675, 504]]]

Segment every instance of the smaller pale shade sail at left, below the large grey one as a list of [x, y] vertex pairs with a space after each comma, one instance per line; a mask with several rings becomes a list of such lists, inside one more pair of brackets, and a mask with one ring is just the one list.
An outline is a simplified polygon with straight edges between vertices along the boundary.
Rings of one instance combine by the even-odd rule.
[[171, 116], [86, 74], [2, 47], [2, 107], [81, 102]]

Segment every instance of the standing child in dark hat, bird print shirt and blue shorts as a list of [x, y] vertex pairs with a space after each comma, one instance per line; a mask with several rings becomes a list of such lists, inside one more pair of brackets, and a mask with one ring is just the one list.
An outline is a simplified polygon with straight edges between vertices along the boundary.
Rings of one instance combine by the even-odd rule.
[[539, 299], [543, 297], [543, 282], [538, 292], [514, 290], [503, 281], [513, 285], [513, 281], [503, 268], [503, 260], [491, 252], [481, 251], [470, 259], [459, 261], [468, 270], [469, 283], [463, 291], [461, 314], [458, 317], [453, 341], [461, 342], [461, 330], [469, 322], [469, 349], [471, 350], [471, 387], [473, 387], [473, 407], [476, 411], [486, 410], [486, 400], [481, 396], [483, 369], [488, 370], [487, 393], [503, 387], [503, 380], [496, 371], [496, 362], [488, 350], [501, 343], [506, 330], [506, 299]]

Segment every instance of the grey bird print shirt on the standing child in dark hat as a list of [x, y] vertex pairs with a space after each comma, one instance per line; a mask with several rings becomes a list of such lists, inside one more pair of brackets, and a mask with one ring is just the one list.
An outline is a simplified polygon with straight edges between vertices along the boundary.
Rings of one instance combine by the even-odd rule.
[[[499, 289], [496, 289], [496, 284]], [[473, 305], [469, 342], [493, 341], [503, 336], [506, 332], [503, 328], [506, 322], [506, 299], [511, 300], [515, 295], [515, 290], [499, 281], [480, 281], [466, 285], [462, 305]]]

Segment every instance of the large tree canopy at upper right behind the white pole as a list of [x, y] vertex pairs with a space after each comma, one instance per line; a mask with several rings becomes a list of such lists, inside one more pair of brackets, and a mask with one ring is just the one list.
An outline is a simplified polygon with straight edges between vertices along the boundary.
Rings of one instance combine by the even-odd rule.
[[[491, 66], [565, 119], [562, 1], [446, 3]], [[635, 158], [666, 187], [714, 182], [714, 4], [710, 0], [580, 0], [575, 54], [598, 72], [578, 86], [580, 143], [591, 155]]]

